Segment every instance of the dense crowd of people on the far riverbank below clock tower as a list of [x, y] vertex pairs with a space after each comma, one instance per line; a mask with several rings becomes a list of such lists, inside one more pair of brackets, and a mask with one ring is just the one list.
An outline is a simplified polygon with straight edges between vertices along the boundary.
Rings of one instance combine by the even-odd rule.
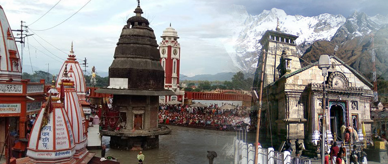
[[188, 105], [160, 105], [159, 123], [212, 127], [217, 130], [243, 128], [249, 131], [255, 127], [250, 126], [252, 114], [250, 109], [244, 106], [235, 106], [234, 109], [220, 109], [217, 104], [210, 104], [203, 108]]

